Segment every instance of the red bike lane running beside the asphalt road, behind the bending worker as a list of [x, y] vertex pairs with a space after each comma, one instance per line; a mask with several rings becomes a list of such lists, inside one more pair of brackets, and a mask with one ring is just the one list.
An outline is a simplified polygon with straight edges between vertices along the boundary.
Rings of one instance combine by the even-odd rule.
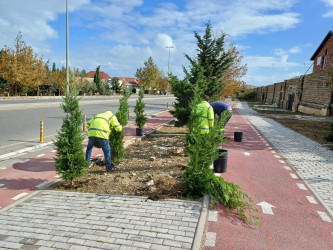
[[[168, 111], [160, 112], [147, 121], [144, 133], [149, 134], [173, 119]], [[135, 135], [135, 130], [136, 125], [134, 123], [124, 128], [125, 146], [140, 138]], [[85, 147], [87, 143], [88, 140], [86, 139], [83, 142]], [[94, 148], [91, 157], [97, 158], [99, 155], [103, 156], [103, 151]], [[12, 167], [0, 169], [0, 210], [57, 181], [59, 176], [55, 170], [55, 157], [56, 152], [52, 150], [23, 162], [18, 161]]]

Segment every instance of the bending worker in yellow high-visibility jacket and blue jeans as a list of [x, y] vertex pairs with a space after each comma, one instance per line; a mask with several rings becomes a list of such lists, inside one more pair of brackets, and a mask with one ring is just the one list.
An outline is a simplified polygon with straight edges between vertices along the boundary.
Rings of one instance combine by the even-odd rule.
[[88, 146], [86, 150], [86, 160], [90, 162], [90, 156], [93, 147], [102, 148], [105, 158], [106, 171], [117, 170], [117, 167], [111, 163], [111, 151], [109, 145], [109, 135], [113, 127], [117, 132], [122, 130], [118, 119], [112, 114], [112, 111], [106, 111], [94, 116], [88, 123]]

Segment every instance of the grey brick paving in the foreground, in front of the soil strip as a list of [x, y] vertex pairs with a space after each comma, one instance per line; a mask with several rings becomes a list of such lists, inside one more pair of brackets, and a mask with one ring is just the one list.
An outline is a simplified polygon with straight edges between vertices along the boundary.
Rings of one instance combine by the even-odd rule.
[[0, 249], [191, 249], [201, 207], [45, 190], [0, 213]]

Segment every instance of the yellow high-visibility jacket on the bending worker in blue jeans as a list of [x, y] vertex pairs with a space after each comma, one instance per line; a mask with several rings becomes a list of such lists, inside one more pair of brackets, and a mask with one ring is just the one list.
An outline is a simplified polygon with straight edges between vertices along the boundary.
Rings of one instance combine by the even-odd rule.
[[111, 127], [114, 127], [117, 132], [122, 130], [117, 117], [111, 111], [97, 114], [87, 123], [88, 137], [109, 139]]

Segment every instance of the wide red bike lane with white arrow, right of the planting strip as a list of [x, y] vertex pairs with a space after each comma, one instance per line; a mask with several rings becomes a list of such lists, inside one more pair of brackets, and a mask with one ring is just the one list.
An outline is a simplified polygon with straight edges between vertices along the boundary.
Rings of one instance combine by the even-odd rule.
[[[243, 132], [242, 142], [234, 141], [235, 131]], [[253, 198], [261, 226], [246, 225], [217, 204], [208, 212], [202, 248], [333, 249], [333, 223], [325, 207], [237, 110], [225, 136], [228, 164], [220, 176]]]

